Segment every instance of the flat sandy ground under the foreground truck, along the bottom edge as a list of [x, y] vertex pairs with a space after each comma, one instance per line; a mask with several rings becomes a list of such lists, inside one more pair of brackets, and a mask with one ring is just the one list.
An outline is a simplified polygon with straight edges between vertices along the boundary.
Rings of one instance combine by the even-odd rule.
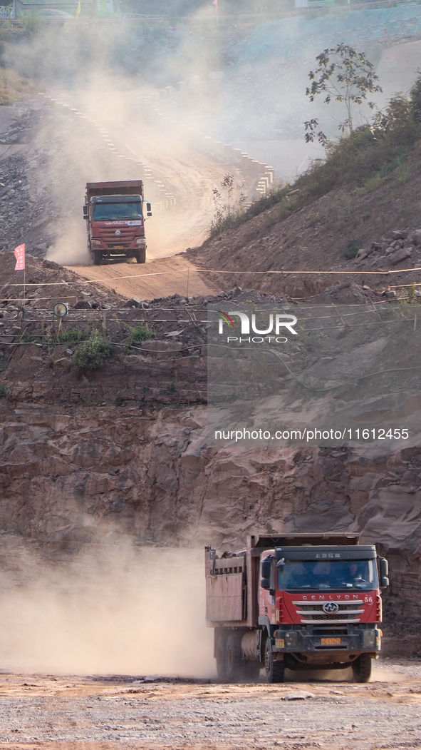
[[136, 676], [0, 676], [0, 748], [419, 748], [420, 661], [369, 685], [224, 685]]

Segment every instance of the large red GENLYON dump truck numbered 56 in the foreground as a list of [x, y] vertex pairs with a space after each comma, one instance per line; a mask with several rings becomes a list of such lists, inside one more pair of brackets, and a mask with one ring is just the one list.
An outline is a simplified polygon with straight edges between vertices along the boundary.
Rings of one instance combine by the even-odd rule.
[[[352, 667], [368, 682], [381, 648], [388, 565], [358, 534], [260, 534], [205, 547], [206, 619], [219, 679], [283, 682], [290, 670]], [[379, 580], [380, 579], [380, 580]]]

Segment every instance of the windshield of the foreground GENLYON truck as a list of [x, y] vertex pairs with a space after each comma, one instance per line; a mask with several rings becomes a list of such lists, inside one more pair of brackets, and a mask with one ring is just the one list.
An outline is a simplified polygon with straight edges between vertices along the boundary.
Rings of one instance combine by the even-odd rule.
[[285, 560], [278, 589], [377, 589], [374, 560]]

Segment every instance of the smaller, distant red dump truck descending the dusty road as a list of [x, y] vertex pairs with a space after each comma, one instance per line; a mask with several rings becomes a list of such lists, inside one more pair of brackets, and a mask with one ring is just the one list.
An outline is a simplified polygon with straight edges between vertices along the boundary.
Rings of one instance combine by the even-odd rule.
[[[83, 217], [88, 229], [88, 251], [95, 266], [103, 260], [146, 260], [142, 180], [88, 182]], [[151, 203], [146, 204], [151, 216]]]

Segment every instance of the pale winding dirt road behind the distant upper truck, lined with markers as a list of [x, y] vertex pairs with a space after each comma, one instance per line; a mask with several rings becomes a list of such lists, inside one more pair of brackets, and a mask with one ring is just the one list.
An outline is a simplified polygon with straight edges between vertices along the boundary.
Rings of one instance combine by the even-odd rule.
[[[91, 89], [60, 92], [55, 114], [62, 114], [65, 106], [76, 106], [79, 115], [69, 119], [75, 131], [87, 121], [91, 123], [88, 139], [84, 136], [84, 158], [74, 175], [79, 183], [79, 202], [84, 182], [98, 179], [97, 165], [87, 148], [94, 135], [109, 163], [108, 178], [128, 178], [128, 170], [135, 169], [137, 177], [145, 180], [145, 199], [152, 202], [154, 211], [147, 226], [148, 256], [158, 258], [203, 242], [215, 213], [213, 188], [220, 187], [227, 172], [234, 175], [235, 184], [244, 185], [245, 193], [252, 196], [258, 174], [246, 167], [241, 171], [234, 164], [234, 151], [226, 159], [217, 157], [211, 150], [211, 139], [205, 139], [193, 127], [169, 121], [157, 107], [145, 104], [146, 93], [112, 91], [104, 98], [102, 92]], [[80, 146], [72, 148], [67, 141], [66, 148], [70, 163], [81, 160]], [[55, 160], [62, 157], [61, 152]], [[234, 199], [237, 191], [231, 201]], [[161, 210], [163, 202], [172, 205]], [[75, 220], [79, 214], [80, 208]]]

